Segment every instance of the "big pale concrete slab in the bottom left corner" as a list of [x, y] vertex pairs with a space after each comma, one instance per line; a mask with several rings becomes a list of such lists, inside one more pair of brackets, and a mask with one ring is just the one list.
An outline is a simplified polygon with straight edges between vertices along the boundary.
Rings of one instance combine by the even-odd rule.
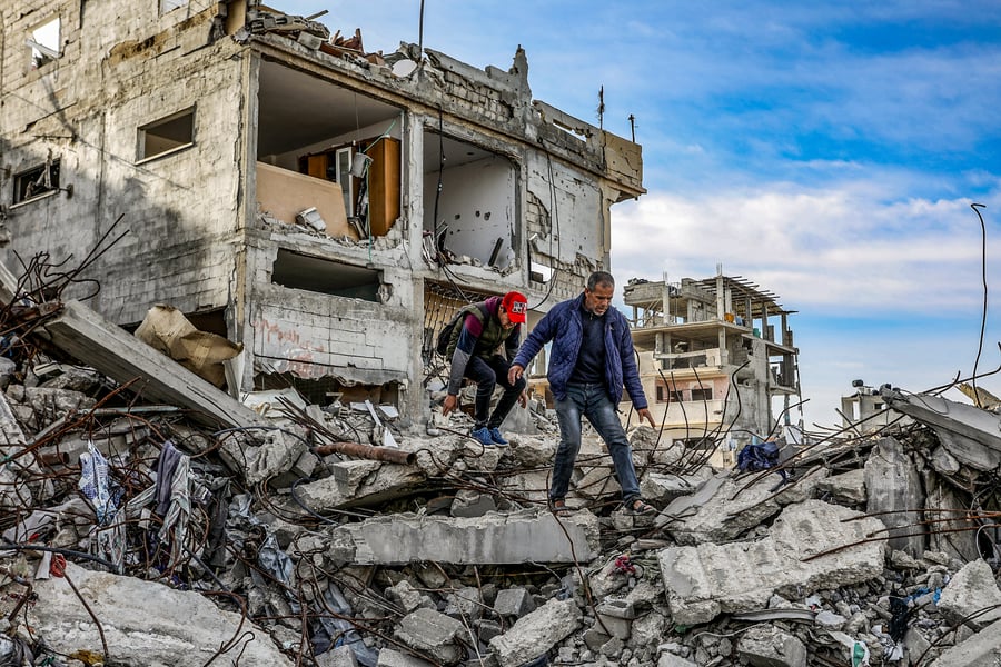
[[37, 580], [38, 600], [29, 608], [31, 625], [53, 650], [101, 654], [101, 633], [92, 611], [101, 620], [110, 657], [120, 664], [200, 667], [216, 655], [220, 641], [249, 629], [254, 638], [239, 645], [241, 665], [293, 665], [266, 630], [240, 614], [219, 609], [200, 594], [72, 563], [66, 564], [66, 573], [90, 610], [60, 577]]

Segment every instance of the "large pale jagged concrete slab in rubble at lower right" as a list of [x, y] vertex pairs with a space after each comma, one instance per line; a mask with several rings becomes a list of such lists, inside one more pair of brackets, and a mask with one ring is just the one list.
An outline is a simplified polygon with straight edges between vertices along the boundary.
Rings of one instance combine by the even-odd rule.
[[882, 526], [858, 511], [806, 500], [787, 507], [764, 539], [664, 549], [657, 558], [672, 618], [697, 625], [720, 613], [763, 608], [775, 591], [807, 595], [879, 577], [885, 541], [870, 535]]

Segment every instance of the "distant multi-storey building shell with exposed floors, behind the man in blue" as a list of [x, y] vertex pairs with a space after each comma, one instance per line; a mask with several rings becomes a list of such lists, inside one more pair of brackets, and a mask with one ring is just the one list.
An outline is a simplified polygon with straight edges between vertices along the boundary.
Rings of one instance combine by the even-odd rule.
[[741, 447], [772, 431], [773, 398], [787, 407], [800, 394], [794, 311], [772, 292], [721, 268], [714, 278], [678, 283], [633, 279], [624, 299], [643, 389], [664, 437], [706, 451], [725, 438], [713, 461], [731, 465]]

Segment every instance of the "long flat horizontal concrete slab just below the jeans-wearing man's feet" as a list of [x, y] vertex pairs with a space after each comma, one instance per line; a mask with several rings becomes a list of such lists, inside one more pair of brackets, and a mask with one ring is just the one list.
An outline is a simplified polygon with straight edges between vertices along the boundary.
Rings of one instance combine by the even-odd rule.
[[559, 521], [532, 510], [473, 519], [396, 515], [338, 526], [333, 534], [350, 538], [350, 560], [361, 565], [576, 563], [591, 560], [599, 548], [598, 521], [591, 512]]

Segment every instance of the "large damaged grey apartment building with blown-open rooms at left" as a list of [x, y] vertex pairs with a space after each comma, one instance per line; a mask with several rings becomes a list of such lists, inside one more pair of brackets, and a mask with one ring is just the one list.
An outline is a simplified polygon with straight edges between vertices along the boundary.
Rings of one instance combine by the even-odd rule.
[[242, 347], [244, 391], [426, 419], [452, 312], [518, 289], [541, 317], [644, 192], [640, 146], [534, 100], [521, 48], [366, 52], [254, 0], [13, 0], [0, 26], [0, 259], [86, 258], [67, 297], [127, 329], [172, 306]]

